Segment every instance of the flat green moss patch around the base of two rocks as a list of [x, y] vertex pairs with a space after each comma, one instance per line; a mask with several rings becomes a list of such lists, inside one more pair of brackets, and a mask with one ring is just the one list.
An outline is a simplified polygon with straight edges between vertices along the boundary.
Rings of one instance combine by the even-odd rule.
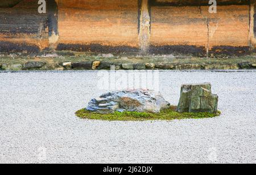
[[220, 116], [221, 112], [217, 114], [211, 113], [178, 113], [176, 106], [171, 106], [168, 109], [162, 110], [160, 113], [142, 113], [142, 112], [115, 112], [110, 114], [99, 114], [90, 112], [86, 109], [81, 109], [76, 112], [76, 116], [87, 119], [100, 119], [106, 121], [147, 121], [147, 120], [172, 120], [185, 118], [212, 118]]

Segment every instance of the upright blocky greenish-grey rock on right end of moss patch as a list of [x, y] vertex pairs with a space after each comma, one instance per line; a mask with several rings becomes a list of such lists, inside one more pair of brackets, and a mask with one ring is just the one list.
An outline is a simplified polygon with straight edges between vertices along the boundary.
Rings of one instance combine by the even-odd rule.
[[209, 112], [218, 110], [218, 96], [213, 95], [210, 83], [183, 84], [181, 86], [178, 112]]

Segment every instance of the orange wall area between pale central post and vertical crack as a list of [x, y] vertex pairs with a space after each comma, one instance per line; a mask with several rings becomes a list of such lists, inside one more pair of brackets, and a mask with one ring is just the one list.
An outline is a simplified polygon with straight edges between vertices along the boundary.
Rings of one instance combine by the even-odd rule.
[[152, 7], [151, 45], [207, 45], [207, 24], [199, 7]]

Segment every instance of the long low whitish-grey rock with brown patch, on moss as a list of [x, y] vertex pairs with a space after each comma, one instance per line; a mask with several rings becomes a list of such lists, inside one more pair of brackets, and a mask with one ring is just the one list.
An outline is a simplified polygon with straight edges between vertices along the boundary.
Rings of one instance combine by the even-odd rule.
[[151, 112], [159, 113], [170, 104], [160, 93], [146, 90], [117, 91], [101, 95], [89, 102], [87, 110], [98, 113]]

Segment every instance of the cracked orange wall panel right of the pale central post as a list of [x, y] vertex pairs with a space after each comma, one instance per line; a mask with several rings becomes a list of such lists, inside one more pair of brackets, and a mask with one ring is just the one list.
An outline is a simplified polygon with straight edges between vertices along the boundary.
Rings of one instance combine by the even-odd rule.
[[249, 6], [152, 7], [151, 45], [249, 46]]

